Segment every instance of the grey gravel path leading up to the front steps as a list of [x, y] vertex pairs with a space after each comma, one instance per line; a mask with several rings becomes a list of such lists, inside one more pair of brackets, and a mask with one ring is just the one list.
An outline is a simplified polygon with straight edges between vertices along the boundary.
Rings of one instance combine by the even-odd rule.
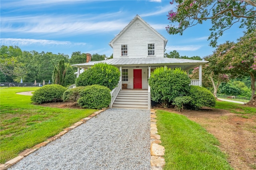
[[150, 169], [150, 110], [107, 109], [8, 170], [133, 169]]

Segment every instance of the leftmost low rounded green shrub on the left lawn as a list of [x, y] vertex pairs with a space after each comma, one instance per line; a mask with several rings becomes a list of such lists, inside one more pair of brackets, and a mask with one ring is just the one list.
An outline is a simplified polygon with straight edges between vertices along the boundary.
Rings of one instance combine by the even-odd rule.
[[45, 85], [34, 92], [31, 100], [36, 104], [59, 102], [62, 101], [62, 95], [66, 89], [58, 84]]

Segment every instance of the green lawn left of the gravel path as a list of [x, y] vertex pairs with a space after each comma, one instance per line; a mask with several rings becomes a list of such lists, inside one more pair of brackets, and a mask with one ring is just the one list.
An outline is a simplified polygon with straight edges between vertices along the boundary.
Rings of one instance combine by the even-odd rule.
[[16, 94], [36, 89], [38, 88], [0, 89], [0, 163], [18, 156], [22, 150], [45, 141], [96, 111], [42, 107], [33, 105], [31, 96]]

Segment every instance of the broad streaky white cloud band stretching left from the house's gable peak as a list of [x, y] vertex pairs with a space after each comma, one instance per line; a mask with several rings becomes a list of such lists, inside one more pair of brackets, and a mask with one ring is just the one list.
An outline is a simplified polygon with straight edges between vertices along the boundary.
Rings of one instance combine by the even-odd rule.
[[[16, 16], [1, 18], [1, 32], [17, 33], [54, 33], [59, 35], [77, 35], [81, 33], [102, 33], [121, 30], [126, 26], [124, 20], [106, 20], [120, 12], [111, 14], [71, 15], [71, 16]], [[104, 15], [104, 21], [102, 16]], [[18, 24], [19, 27], [14, 25]]]

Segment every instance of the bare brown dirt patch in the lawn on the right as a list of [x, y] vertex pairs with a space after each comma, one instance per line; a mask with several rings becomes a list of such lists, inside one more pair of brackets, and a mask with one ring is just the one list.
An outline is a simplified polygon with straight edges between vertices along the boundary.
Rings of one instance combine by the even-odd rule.
[[222, 109], [202, 109], [202, 111], [182, 112], [173, 108], [159, 108], [185, 115], [199, 123], [220, 141], [220, 149], [228, 155], [228, 162], [235, 170], [256, 169], [256, 117], [248, 119], [240, 114]]

